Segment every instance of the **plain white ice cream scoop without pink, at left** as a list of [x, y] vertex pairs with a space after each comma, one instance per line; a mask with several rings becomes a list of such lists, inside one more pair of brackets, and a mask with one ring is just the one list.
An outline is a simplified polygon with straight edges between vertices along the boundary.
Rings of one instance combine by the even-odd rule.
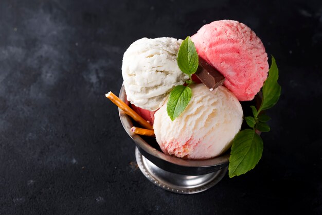
[[142, 38], [123, 56], [122, 76], [127, 99], [149, 111], [160, 108], [171, 89], [189, 79], [177, 65], [182, 40]]

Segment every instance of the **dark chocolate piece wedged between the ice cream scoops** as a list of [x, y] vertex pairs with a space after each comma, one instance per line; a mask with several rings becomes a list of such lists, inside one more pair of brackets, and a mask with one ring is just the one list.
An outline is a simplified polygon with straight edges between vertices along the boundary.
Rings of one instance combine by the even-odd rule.
[[199, 66], [195, 75], [210, 89], [210, 91], [216, 89], [225, 81], [225, 77], [201, 57], [199, 57]]

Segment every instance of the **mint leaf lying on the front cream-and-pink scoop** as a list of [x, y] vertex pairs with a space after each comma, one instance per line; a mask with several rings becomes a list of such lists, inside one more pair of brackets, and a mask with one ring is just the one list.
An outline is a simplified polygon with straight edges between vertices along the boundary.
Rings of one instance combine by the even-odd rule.
[[177, 85], [170, 92], [167, 103], [167, 112], [173, 121], [185, 110], [192, 96], [191, 88], [188, 86]]

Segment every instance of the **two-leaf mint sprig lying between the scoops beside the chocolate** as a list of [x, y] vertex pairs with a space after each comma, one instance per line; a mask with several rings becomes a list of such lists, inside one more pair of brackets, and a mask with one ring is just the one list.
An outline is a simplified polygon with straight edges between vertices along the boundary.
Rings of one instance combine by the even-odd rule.
[[186, 81], [188, 85], [177, 85], [170, 92], [167, 112], [172, 121], [180, 116], [191, 99], [192, 91], [189, 87], [193, 83], [191, 75], [196, 72], [199, 65], [198, 53], [189, 36], [180, 45], [177, 63], [183, 73], [189, 75], [189, 80]]

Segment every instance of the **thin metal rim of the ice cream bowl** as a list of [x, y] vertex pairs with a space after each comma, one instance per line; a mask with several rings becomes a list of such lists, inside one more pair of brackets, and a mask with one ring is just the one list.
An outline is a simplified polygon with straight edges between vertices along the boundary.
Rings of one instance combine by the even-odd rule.
[[[120, 89], [119, 98], [123, 102], [129, 104], [126, 98], [126, 92], [123, 84]], [[229, 150], [220, 156], [204, 159], [204, 160], [188, 160], [188, 159], [183, 159], [183, 158], [164, 154], [163, 152], [160, 152], [159, 150], [156, 150], [155, 148], [153, 148], [150, 144], [148, 144], [148, 142], [142, 139], [139, 135], [133, 134], [130, 131], [130, 129], [133, 127], [131, 117], [129, 117], [120, 108], [118, 109], [118, 112], [119, 112], [119, 117], [124, 130], [126, 130], [128, 135], [134, 140], [136, 146], [138, 146], [141, 150], [144, 150], [146, 153], [148, 153], [151, 156], [162, 159], [174, 165], [184, 166], [184, 167], [196, 167], [196, 168], [222, 166], [222, 165], [227, 165], [227, 163], [229, 162], [229, 156], [230, 156]]]

